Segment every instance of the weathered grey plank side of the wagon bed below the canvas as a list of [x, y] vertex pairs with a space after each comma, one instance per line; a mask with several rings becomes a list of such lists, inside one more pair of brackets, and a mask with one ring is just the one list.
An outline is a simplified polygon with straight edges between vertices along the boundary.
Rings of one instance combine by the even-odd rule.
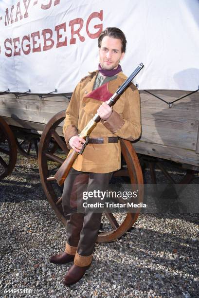
[[[172, 102], [188, 91], [153, 90]], [[199, 169], [199, 92], [169, 106], [140, 91], [142, 136], [133, 143], [137, 153], [172, 160]], [[11, 126], [41, 133], [57, 112], [66, 110], [71, 93], [0, 94], [0, 116]], [[17, 98], [18, 97], [18, 98]], [[63, 136], [61, 123], [59, 135]]]

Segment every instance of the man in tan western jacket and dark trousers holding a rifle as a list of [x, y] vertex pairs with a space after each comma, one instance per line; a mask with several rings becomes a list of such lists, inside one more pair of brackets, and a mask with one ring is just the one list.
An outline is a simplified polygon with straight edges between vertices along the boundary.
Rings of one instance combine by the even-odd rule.
[[[62, 195], [64, 214], [68, 219], [65, 252], [50, 258], [56, 264], [74, 261], [63, 283], [71, 285], [81, 279], [92, 261], [102, 214], [76, 212], [81, 187], [87, 191], [106, 191], [112, 172], [121, 167], [118, 137], [133, 141], [141, 134], [140, 96], [130, 87], [113, 108], [106, 101], [126, 80], [120, 60], [126, 51], [126, 37], [118, 28], [105, 29], [98, 38], [99, 69], [84, 77], [76, 86], [66, 111], [63, 132], [68, 148], [80, 152], [85, 140], [78, 134], [96, 112], [101, 121], [90, 133], [89, 144], [75, 160], [65, 180]], [[78, 188], [78, 194], [77, 194]]]

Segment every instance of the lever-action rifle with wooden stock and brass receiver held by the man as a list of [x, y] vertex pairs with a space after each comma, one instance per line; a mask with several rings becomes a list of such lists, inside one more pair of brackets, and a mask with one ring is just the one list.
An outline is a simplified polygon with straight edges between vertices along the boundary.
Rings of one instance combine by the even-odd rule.
[[[109, 98], [109, 100], [107, 101], [107, 104], [109, 105], [109, 107], [114, 105], [118, 96], [120, 96], [123, 93], [123, 91], [127, 88], [128, 84], [141, 71], [143, 67], [144, 67], [144, 64], [140, 63], [138, 67], [134, 70], [134, 72], [122, 84], [122, 86], [120, 86], [119, 89]], [[47, 178], [47, 181], [56, 180], [59, 186], [62, 186], [64, 184], [64, 181], [68, 176], [68, 173], [72, 168], [72, 165], [75, 159], [77, 158], [78, 154], [82, 154], [84, 148], [88, 144], [90, 132], [95, 128], [95, 126], [97, 125], [97, 122], [99, 122], [100, 120], [101, 120], [100, 116], [98, 115], [98, 113], [96, 113], [79, 135], [81, 138], [86, 140], [86, 143], [83, 144], [81, 151], [77, 153], [74, 149], [72, 149], [72, 151], [68, 154], [66, 160], [63, 162], [61, 167], [54, 174], [54, 177]]]

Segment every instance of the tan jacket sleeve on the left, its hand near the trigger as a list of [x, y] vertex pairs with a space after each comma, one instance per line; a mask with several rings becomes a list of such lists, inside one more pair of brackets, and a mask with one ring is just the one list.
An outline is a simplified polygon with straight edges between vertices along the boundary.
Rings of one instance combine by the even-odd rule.
[[69, 106], [66, 110], [66, 118], [64, 119], [63, 133], [66, 145], [69, 149], [69, 140], [72, 136], [78, 135], [77, 125], [79, 119], [79, 100], [80, 100], [80, 83], [74, 89]]

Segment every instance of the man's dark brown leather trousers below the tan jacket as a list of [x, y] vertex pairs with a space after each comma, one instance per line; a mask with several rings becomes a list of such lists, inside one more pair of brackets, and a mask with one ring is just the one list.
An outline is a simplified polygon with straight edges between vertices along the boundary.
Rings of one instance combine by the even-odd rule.
[[[67, 243], [76, 248], [80, 256], [90, 256], [98, 236], [102, 213], [93, 210], [77, 213], [77, 205], [85, 202], [83, 191], [106, 191], [109, 187], [111, 173], [86, 173], [71, 169], [64, 183], [62, 207], [67, 222]], [[95, 198], [95, 202], [102, 202]], [[99, 212], [99, 211], [98, 211]]]

